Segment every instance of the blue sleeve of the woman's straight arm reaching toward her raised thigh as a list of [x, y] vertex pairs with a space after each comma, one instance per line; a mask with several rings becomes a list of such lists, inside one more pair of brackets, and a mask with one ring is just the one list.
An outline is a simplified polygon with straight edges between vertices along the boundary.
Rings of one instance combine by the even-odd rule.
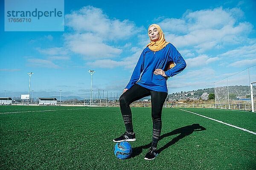
[[140, 79], [140, 74], [142, 73], [144, 68], [144, 55], [144, 51], [142, 51], [142, 53], [140, 54], [140, 58], [131, 75], [131, 79], [128, 82], [128, 85], [125, 87], [128, 90]]

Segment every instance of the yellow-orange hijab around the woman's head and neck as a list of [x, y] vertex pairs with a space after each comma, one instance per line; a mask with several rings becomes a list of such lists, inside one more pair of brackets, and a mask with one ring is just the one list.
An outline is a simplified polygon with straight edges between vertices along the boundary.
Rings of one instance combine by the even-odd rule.
[[[147, 45], [147, 47], [151, 50], [151, 51], [160, 51], [161, 49], [163, 49], [167, 44], [169, 44], [170, 42], [167, 42], [165, 40], [165, 37], [164, 37], [164, 34], [163, 34], [163, 31], [162, 29], [160, 28], [160, 26], [158, 26], [157, 24], [152, 24], [151, 26], [155, 26], [159, 32], [159, 38], [155, 41], [152, 41], [149, 37], [149, 34], [148, 34], [148, 37], [150, 39], [150, 43]], [[149, 26], [148, 27], [148, 31], [149, 31], [149, 28], [151, 27]], [[169, 67], [167, 70], [171, 69], [172, 67], [174, 67], [174, 62], [170, 62], [169, 63]]]

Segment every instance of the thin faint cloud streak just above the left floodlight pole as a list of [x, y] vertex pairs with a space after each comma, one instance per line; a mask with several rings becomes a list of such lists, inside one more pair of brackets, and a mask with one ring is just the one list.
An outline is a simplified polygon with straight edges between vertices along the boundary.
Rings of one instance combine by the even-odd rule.
[[52, 61], [46, 59], [27, 59], [27, 62], [30, 67], [42, 67], [42, 68], [60, 68], [58, 65], [55, 65]]

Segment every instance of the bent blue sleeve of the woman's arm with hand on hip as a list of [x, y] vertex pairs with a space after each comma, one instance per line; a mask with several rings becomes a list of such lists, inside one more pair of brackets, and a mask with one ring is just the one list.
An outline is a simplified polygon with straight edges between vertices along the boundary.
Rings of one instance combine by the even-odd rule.
[[172, 69], [165, 71], [167, 77], [173, 77], [186, 68], [186, 62], [175, 46], [171, 45], [168, 57], [174, 61], [176, 65]]

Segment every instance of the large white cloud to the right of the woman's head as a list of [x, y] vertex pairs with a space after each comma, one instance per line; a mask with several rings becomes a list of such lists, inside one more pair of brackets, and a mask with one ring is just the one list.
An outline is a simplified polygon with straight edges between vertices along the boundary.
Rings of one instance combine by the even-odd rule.
[[193, 47], [198, 53], [220, 48], [225, 44], [239, 44], [252, 31], [252, 24], [237, 20], [242, 17], [239, 8], [187, 11], [181, 19], [166, 18], [159, 22], [166, 40], [181, 47]]

